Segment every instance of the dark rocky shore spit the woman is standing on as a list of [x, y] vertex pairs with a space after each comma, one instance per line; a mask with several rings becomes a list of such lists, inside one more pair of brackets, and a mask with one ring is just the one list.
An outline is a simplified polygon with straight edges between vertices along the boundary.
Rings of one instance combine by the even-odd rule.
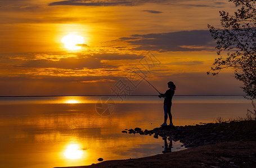
[[164, 126], [152, 130], [134, 128], [125, 129], [122, 132], [167, 138], [174, 142], [180, 141], [188, 148], [226, 141], [256, 141], [256, 121]]

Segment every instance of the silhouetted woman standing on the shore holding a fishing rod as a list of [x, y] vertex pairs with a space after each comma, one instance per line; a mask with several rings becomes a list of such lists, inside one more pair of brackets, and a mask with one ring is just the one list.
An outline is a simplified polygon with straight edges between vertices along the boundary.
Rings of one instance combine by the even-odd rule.
[[168, 88], [169, 90], [167, 90], [165, 92], [165, 94], [160, 94], [159, 97], [164, 97], [164, 123], [161, 124], [161, 126], [166, 126], [167, 125], [167, 118], [169, 115], [169, 119], [170, 119], [170, 124], [169, 125], [173, 125], [172, 123], [172, 114], [170, 113], [170, 108], [172, 107], [172, 97], [174, 95], [174, 92], [176, 90], [176, 86], [174, 85], [174, 83], [172, 81], [168, 82]]

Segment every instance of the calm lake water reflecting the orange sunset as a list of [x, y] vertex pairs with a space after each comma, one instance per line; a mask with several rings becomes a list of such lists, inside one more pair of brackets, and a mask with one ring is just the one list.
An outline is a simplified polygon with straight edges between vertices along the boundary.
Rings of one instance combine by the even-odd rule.
[[[156, 155], [163, 139], [122, 133], [163, 123], [163, 99], [122, 97], [0, 97], [0, 167], [60, 167]], [[242, 96], [174, 96], [173, 124], [245, 117]], [[169, 143], [169, 142], [168, 142]], [[182, 150], [173, 142], [172, 151]]]

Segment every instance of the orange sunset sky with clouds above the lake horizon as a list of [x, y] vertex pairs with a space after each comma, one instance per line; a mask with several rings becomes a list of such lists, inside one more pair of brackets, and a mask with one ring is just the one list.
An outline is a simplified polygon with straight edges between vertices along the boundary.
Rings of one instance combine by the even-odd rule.
[[[207, 24], [221, 27], [221, 10], [236, 8], [227, 0], [0, 0], [0, 96], [115, 95], [120, 82], [128, 95], [158, 94], [127, 68], [160, 92], [173, 81], [176, 95], [244, 95], [232, 69], [206, 74], [217, 58]], [[146, 69], [149, 55], [158, 63]]]

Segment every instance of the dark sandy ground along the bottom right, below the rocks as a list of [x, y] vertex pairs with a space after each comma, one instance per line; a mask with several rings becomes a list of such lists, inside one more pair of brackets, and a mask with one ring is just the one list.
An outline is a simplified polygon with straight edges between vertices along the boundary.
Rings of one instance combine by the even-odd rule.
[[256, 141], [235, 141], [75, 167], [256, 167]]

